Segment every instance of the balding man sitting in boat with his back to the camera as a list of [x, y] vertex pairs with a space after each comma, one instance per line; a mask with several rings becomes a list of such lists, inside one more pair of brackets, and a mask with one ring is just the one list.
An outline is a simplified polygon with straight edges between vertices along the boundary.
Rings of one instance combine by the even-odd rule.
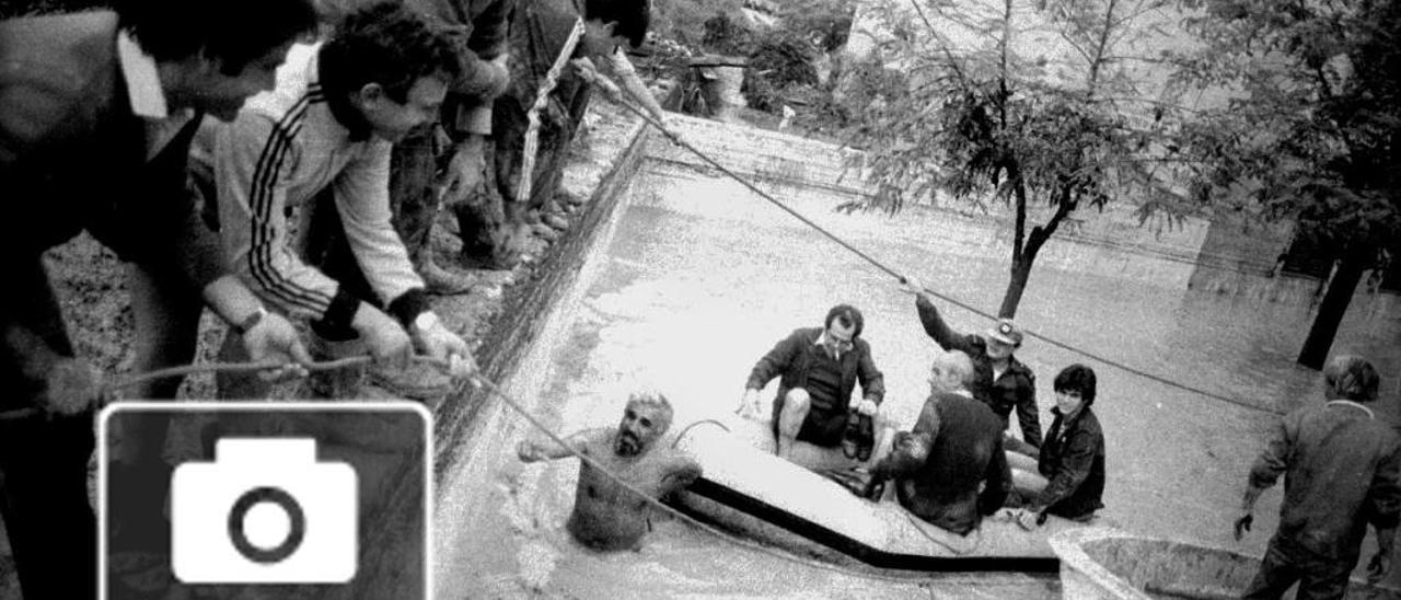
[[1002, 449], [1002, 419], [974, 400], [974, 364], [962, 352], [934, 357], [929, 400], [911, 432], [895, 435], [891, 453], [871, 468], [867, 498], [895, 479], [895, 498], [915, 516], [960, 536], [996, 513], [1012, 491]]

